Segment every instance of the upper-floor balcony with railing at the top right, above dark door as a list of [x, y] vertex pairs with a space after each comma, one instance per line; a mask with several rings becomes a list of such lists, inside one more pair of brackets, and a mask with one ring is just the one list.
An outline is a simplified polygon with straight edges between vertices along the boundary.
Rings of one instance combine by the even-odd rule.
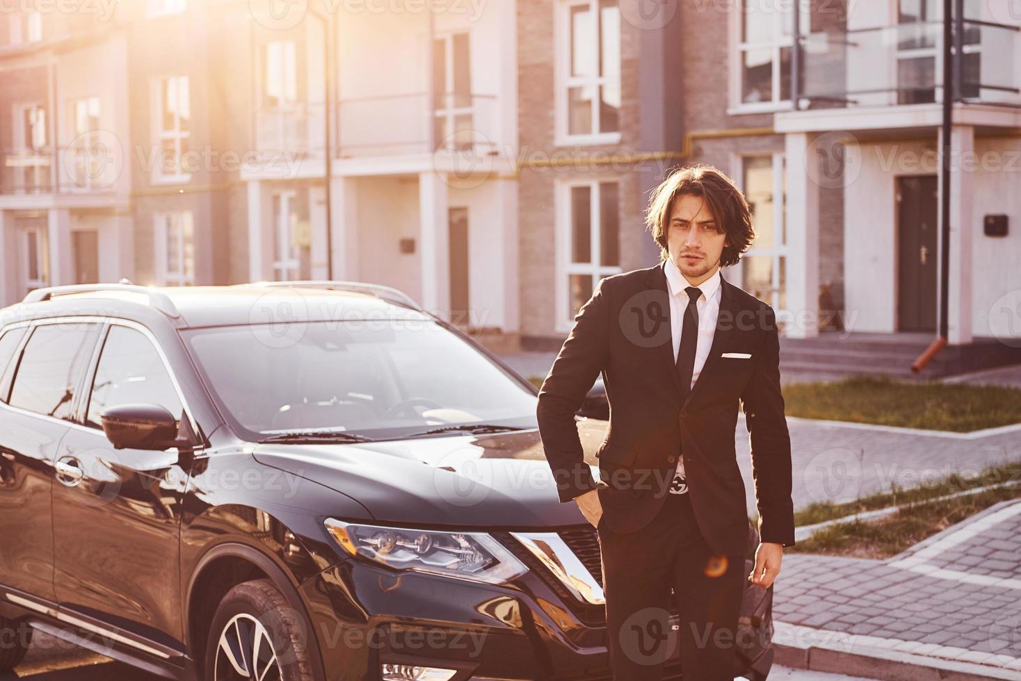
[[[955, 41], [961, 33], [960, 54], [951, 45], [955, 102], [992, 112], [976, 116], [972, 111], [976, 124], [1018, 124], [1021, 90], [1015, 64], [1021, 27], [963, 18], [954, 31]], [[777, 114], [778, 130], [812, 129], [810, 118], [821, 125], [817, 129], [939, 124], [942, 20], [817, 32], [799, 36], [799, 60], [791, 64], [797, 106]]]

